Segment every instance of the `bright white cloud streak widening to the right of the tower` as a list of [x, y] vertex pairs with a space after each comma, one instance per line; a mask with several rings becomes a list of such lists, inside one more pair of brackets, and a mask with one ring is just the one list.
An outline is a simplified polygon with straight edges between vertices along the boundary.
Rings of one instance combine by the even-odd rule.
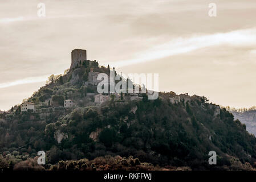
[[154, 46], [147, 51], [138, 53], [134, 59], [121, 60], [110, 63], [115, 67], [125, 67], [127, 65], [145, 63], [161, 59], [163, 57], [174, 56], [181, 53], [196, 51], [197, 49], [220, 46], [253, 46], [256, 45], [256, 28], [230, 31], [203, 36], [192, 36], [190, 38], [176, 38], [165, 44]]

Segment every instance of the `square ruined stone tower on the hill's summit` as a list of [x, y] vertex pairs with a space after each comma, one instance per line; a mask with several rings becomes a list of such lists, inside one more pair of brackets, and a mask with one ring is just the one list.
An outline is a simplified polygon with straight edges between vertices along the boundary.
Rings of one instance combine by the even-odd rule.
[[86, 50], [83, 49], [74, 49], [71, 52], [71, 66], [70, 70], [81, 67], [83, 64], [83, 61], [87, 60], [86, 57]]

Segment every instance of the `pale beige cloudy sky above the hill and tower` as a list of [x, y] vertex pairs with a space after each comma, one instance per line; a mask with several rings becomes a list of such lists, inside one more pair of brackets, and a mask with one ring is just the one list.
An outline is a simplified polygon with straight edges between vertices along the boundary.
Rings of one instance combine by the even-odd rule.
[[64, 73], [75, 48], [125, 75], [159, 73], [160, 91], [254, 106], [255, 17], [255, 0], [1, 0], [0, 110]]

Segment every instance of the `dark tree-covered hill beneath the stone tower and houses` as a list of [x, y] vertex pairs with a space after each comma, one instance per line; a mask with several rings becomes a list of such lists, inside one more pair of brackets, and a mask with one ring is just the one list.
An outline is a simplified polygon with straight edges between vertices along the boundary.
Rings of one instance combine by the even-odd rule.
[[[114, 158], [124, 159], [118, 160], [124, 166], [139, 160], [140, 169], [143, 163], [151, 166], [147, 169], [253, 169], [256, 138], [229, 111], [204, 97], [173, 92], [159, 93], [157, 100], [141, 93], [135, 99], [114, 94], [96, 102], [95, 73], [109, 70], [84, 60], [65, 75], [49, 77], [26, 100], [35, 104], [34, 112], [14, 106], [10, 114], [2, 114], [0, 168], [33, 166], [37, 152], [45, 151], [45, 169], [72, 161], [75, 168], [80, 159], [91, 166], [103, 156], [104, 165], [112, 165]], [[64, 100], [74, 106], [64, 107]], [[217, 165], [209, 165], [209, 151], [217, 152]]]

